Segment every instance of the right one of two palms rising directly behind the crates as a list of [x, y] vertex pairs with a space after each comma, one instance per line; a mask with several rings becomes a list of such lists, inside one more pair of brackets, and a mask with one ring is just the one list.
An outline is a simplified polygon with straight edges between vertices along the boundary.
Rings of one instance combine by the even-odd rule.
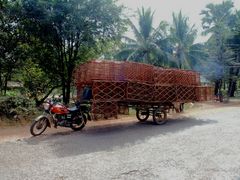
[[171, 36], [178, 68], [194, 69], [206, 58], [204, 46], [194, 44], [196, 35], [197, 30], [194, 25], [188, 24], [188, 17], [183, 16], [181, 11], [177, 15], [173, 13]]

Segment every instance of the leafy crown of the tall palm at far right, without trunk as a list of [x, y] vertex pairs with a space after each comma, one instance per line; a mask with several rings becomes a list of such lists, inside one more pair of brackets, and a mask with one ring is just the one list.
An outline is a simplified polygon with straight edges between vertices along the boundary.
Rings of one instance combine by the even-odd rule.
[[233, 21], [233, 8], [232, 1], [223, 1], [222, 4], [208, 4], [206, 9], [202, 10], [202, 26], [204, 29], [203, 34], [210, 34], [208, 40], [209, 44], [213, 44], [215, 48], [211, 47], [211, 55], [215, 56], [215, 59], [218, 63], [224, 63], [226, 59], [226, 50], [225, 41], [231, 34], [231, 26], [234, 23]]

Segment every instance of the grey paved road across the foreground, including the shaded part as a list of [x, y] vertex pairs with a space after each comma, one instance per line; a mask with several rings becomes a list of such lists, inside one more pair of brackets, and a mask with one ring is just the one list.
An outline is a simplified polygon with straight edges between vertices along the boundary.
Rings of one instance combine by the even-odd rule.
[[240, 179], [239, 107], [3, 142], [0, 179]]

